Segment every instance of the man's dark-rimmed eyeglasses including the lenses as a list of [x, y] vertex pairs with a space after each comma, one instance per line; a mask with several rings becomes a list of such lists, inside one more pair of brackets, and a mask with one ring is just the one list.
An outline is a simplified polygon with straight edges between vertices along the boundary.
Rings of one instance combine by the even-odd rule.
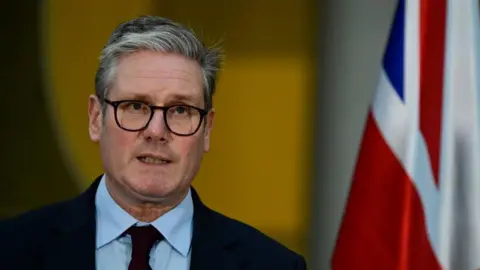
[[190, 136], [200, 128], [208, 111], [190, 105], [154, 106], [139, 100], [111, 101], [103, 99], [114, 108], [117, 125], [126, 131], [140, 131], [148, 127], [156, 110], [163, 111], [167, 128], [179, 136]]

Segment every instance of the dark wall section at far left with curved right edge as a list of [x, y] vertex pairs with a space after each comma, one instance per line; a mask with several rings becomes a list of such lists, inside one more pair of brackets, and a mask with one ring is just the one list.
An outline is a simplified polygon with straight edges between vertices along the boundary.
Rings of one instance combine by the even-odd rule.
[[[2, 1], [0, 218], [77, 190], [47, 115], [41, 77], [42, 1]], [[72, 52], [75, 53], [75, 52]]]

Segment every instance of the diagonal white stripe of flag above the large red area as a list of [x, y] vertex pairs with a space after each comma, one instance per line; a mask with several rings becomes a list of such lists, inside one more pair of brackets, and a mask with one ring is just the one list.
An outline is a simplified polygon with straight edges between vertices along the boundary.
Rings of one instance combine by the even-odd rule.
[[[438, 250], [437, 235], [439, 192], [435, 186], [430, 159], [425, 140], [418, 127], [413, 136], [409, 136], [415, 115], [408, 113], [408, 108], [400, 100], [392, 84], [382, 70], [378, 89], [373, 101], [373, 116], [390, 149], [402, 164], [407, 175], [419, 193], [424, 208], [427, 233], [434, 252]], [[408, 155], [406, 145], [413, 145]], [[410, 158], [410, 160], [408, 160]], [[408, 167], [407, 165], [410, 165]]]

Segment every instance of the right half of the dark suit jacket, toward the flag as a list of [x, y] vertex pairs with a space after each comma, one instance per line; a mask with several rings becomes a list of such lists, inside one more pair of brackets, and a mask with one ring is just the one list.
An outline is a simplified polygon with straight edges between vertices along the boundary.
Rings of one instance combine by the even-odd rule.
[[[242, 266], [238, 269], [306, 269], [305, 259], [301, 255], [258, 229], [208, 208], [200, 202], [195, 190], [193, 191], [195, 205], [193, 254], [196, 249], [203, 250], [207, 243], [213, 243], [223, 248], [223, 253], [218, 251], [218, 254], [230, 256]], [[198, 236], [199, 234], [207, 237], [202, 238]], [[212, 245], [207, 248], [212, 248]], [[202, 255], [208, 257], [207, 254]], [[195, 259], [194, 256], [192, 261]], [[224, 268], [237, 269], [227, 266]]]

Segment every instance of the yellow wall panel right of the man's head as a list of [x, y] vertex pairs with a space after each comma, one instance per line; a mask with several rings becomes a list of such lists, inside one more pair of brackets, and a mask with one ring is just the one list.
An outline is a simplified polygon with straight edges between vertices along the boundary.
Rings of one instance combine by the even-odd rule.
[[194, 182], [219, 209], [265, 228], [304, 222], [305, 100], [292, 91], [307, 87], [302, 65], [300, 58], [230, 58], [215, 99], [212, 149]]

